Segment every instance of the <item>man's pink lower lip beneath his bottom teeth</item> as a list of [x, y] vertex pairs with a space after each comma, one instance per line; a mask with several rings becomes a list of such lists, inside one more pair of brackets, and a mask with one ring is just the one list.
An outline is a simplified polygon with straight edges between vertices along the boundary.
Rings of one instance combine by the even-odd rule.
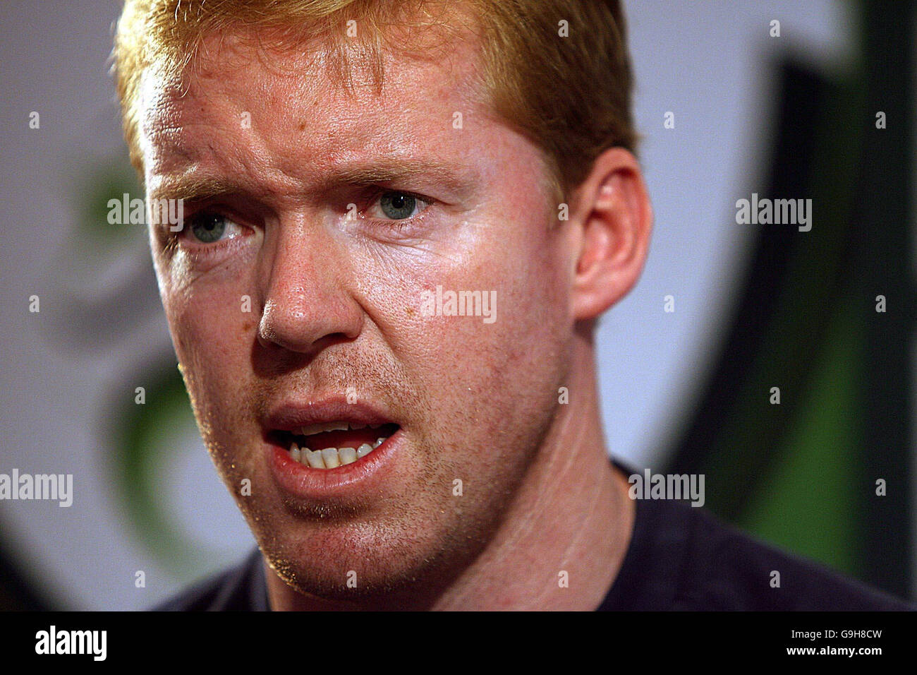
[[283, 492], [301, 499], [321, 500], [329, 497], [365, 495], [373, 483], [381, 483], [392, 470], [401, 441], [401, 429], [392, 433], [369, 455], [356, 462], [335, 468], [313, 468], [297, 462], [290, 451], [275, 444], [265, 444], [271, 474]]

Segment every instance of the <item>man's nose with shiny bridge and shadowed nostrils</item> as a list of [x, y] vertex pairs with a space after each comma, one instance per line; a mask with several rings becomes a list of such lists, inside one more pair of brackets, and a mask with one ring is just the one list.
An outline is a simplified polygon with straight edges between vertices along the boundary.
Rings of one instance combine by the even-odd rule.
[[[266, 275], [258, 340], [265, 347], [316, 354], [329, 344], [353, 340], [363, 310], [351, 295], [348, 261], [328, 233], [281, 226]], [[263, 277], [262, 277], [263, 278]]]

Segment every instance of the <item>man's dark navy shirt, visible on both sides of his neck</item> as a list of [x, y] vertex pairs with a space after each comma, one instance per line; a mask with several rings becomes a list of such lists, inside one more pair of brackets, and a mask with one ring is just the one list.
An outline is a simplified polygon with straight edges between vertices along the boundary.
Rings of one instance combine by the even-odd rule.
[[[771, 586], [779, 572], [779, 588]], [[260, 551], [155, 608], [265, 612]], [[680, 501], [637, 500], [624, 563], [598, 607], [621, 610], [914, 610], [917, 607], [791, 557]]]

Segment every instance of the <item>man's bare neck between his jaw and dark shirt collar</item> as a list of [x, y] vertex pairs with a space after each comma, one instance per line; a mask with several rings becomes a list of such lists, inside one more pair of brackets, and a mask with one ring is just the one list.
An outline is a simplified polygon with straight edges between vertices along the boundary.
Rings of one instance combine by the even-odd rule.
[[[503, 524], [430, 609], [594, 610], [611, 588], [630, 543], [634, 502], [605, 449], [591, 337], [578, 333], [572, 363], [569, 403], [558, 405]], [[301, 605], [265, 571], [273, 609]]]

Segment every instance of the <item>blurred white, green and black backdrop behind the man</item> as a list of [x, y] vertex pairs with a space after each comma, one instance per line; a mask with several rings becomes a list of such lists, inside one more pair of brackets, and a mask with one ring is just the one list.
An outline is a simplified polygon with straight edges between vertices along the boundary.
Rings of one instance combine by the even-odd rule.
[[[0, 501], [4, 609], [146, 608], [254, 546], [194, 426], [143, 226], [106, 219], [142, 196], [108, 74], [119, 7], [0, 4], [0, 473], [74, 490]], [[703, 473], [725, 521], [915, 598], [913, 3], [625, 9], [656, 221], [599, 333], [609, 447]], [[812, 231], [736, 224], [752, 193], [811, 198]]]

